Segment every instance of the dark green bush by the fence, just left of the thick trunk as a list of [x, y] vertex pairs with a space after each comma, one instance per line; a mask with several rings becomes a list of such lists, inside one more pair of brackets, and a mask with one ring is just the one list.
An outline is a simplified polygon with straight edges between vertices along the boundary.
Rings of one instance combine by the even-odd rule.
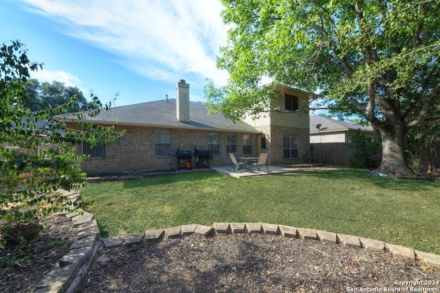
[[380, 153], [380, 141], [366, 137], [360, 129], [349, 132], [347, 148], [355, 148], [357, 152], [347, 158], [349, 167], [377, 167], [373, 156]]

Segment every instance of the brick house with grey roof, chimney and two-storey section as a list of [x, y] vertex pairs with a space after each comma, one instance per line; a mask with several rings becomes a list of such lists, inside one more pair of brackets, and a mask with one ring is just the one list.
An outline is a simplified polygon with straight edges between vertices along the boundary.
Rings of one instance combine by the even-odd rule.
[[283, 91], [283, 100], [271, 104], [278, 111], [260, 119], [248, 117], [239, 124], [221, 114], [208, 115], [201, 102], [190, 102], [185, 80], [177, 83], [175, 99], [119, 106], [85, 117], [87, 123], [100, 125], [118, 120], [118, 128], [126, 134], [113, 145], [78, 149], [90, 154], [83, 171], [175, 169], [177, 150], [195, 148], [212, 152], [210, 165], [230, 164], [229, 152], [243, 156], [268, 152], [271, 164], [308, 162], [309, 115], [300, 115], [297, 109], [308, 104], [311, 94], [287, 87]]

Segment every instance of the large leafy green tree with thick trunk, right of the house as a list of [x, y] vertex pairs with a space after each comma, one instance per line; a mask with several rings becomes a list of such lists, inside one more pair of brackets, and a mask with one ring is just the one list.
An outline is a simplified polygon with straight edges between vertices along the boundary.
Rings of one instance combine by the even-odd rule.
[[[382, 137], [378, 172], [410, 175], [408, 130], [439, 119], [440, 1], [222, 0], [225, 86], [206, 86], [211, 111], [232, 119], [270, 100], [262, 78], [320, 91], [325, 107], [359, 115]], [[272, 89], [272, 88], [267, 88]]]

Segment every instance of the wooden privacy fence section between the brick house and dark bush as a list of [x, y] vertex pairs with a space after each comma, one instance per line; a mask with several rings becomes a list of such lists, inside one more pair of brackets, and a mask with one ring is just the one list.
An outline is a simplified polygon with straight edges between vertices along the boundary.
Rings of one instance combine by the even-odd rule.
[[310, 143], [311, 161], [327, 165], [347, 165], [347, 158], [356, 152], [346, 143]]

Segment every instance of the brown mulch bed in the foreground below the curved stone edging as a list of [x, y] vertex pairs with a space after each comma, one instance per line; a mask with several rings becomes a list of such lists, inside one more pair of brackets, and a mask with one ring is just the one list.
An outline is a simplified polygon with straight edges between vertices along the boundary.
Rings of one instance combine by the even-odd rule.
[[399, 283], [425, 280], [440, 280], [440, 270], [389, 252], [279, 235], [215, 234], [102, 246], [80, 292], [384, 292], [440, 286]]

